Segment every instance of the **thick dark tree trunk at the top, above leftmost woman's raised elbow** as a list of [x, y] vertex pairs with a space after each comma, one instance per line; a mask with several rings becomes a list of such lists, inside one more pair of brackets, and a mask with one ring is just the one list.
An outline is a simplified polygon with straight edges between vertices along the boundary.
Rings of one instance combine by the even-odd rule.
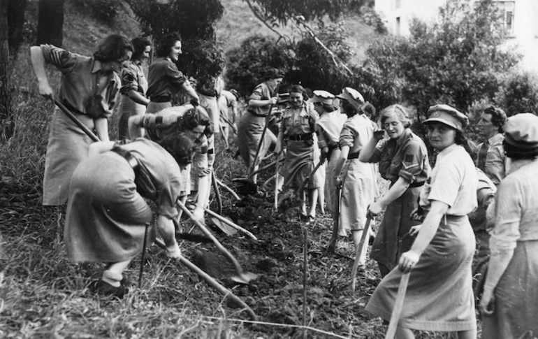
[[39, 0], [37, 44], [61, 47], [64, 38], [64, 0]]

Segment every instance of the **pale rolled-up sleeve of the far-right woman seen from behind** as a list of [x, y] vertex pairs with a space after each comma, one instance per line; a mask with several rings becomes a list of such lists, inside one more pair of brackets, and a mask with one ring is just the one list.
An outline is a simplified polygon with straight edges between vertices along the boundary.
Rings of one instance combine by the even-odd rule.
[[491, 254], [511, 252], [516, 248], [521, 237], [519, 224], [521, 220], [521, 189], [512, 180], [504, 180], [497, 191], [495, 199], [495, 226], [491, 231]]

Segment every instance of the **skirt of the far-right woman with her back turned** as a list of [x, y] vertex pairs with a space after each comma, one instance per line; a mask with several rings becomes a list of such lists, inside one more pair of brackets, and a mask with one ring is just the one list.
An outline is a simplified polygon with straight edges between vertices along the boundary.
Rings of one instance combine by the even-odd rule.
[[530, 331], [538, 335], [538, 240], [518, 241], [495, 288], [494, 303], [493, 315], [482, 316], [482, 338], [526, 338]]

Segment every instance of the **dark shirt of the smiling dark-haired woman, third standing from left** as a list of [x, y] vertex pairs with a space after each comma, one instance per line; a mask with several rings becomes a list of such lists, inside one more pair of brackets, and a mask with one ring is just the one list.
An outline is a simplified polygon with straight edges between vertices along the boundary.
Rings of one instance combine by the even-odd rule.
[[168, 58], [157, 58], [147, 71], [147, 97], [173, 96], [187, 81], [183, 73]]

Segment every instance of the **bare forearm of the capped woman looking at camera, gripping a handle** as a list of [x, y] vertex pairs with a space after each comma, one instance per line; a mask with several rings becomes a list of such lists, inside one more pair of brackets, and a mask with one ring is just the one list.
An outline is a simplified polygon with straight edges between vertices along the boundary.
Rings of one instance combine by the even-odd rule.
[[449, 205], [446, 203], [437, 200], [432, 201], [430, 211], [422, 223], [419, 235], [416, 236], [411, 250], [403, 253], [400, 257], [400, 262], [398, 264], [400, 271], [404, 273], [409, 272], [414, 268], [416, 263], [419, 262], [422, 253], [432, 241], [435, 233], [437, 233], [441, 219], [448, 209]]

